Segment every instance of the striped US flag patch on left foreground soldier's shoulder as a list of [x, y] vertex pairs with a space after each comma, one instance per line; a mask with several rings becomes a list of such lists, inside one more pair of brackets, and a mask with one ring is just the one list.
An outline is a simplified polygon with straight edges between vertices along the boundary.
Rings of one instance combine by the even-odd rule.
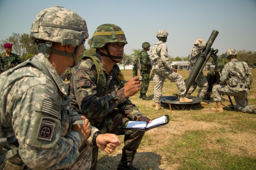
[[44, 99], [43, 106], [41, 109], [42, 113], [50, 114], [53, 117], [59, 117], [60, 107], [50, 100]]

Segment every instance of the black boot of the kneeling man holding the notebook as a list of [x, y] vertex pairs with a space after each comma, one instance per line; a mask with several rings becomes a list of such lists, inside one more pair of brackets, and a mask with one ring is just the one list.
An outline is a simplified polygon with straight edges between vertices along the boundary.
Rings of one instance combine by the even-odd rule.
[[128, 151], [125, 148], [122, 151], [122, 158], [117, 166], [117, 170], [140, 170], [132, 166], [132, 161], [137, 151]]

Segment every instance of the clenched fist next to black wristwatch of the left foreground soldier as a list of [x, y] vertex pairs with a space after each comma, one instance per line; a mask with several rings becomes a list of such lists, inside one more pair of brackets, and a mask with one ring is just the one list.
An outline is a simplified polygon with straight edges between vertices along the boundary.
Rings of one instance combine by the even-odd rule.
[[115, 134], [105, 133], [97, 136], [96, 144], [101, 150], [111, 154], [121, 142]]

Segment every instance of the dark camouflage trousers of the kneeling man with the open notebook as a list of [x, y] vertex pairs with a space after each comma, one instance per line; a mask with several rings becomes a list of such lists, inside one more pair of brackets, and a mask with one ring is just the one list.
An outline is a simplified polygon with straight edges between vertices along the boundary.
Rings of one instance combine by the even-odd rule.
[[[111, 117], [113, 123], [107, 125], [104, 125], [104, 123], [102, 123], [100, 126], [98, 126], [97, 128], [101, 131], [100, 133], [114, 133], [116, 135], [124, 135], [125, 149], [129, 151], [136, 151], [145, 132], [122, 129], [125, 122], [131, 119], [123, 115], [120, 111], [118, 111], [118, 109], [114, 109], [114, 111], [110, 113], [109, 116]], [[96, 170], [97, 160], [98, 147], [94, 147], [92, 150], [91, 170]]]

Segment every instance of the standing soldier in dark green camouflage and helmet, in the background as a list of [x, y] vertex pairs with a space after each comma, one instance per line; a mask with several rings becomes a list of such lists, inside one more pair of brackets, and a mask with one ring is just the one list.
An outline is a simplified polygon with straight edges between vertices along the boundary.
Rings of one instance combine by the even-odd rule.
[[144, 42], [142, 43], [143, 50], [140, 52], [140, 64], [142, 71], [142, 85], [140, 90], [140, 95], [142, 96], [142, 100], [152, 100], [146, 96], [146, 92], [148, 91], [149, 81], [150, 81], [150, 71], [152, 68], [149, 55], [147, 51], [150, 50], [150, 43]]

